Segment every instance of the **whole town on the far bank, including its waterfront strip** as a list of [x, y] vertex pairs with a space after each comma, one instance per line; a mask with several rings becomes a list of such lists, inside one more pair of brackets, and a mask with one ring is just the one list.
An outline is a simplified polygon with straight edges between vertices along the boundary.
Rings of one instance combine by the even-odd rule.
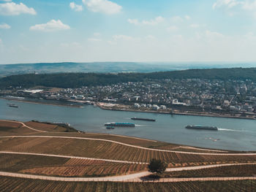
[[4, 99], [104, 110], [256, 118], [256, 83], [252, 80], [148, 80], [80, 88], [12, 88], [0, 90]]

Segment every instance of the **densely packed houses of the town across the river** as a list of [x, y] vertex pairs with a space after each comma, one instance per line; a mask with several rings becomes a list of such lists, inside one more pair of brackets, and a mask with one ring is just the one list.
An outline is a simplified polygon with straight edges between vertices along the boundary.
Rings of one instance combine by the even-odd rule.
[[147, 80], [63, 88], [56, 91], [17, 88], [11, 95], [56, 100], [104, 101], [152, 110], [165, 109], [170, 105], [238, 112], [255, 112], [256, 109], [256, 83], [250, 80]]

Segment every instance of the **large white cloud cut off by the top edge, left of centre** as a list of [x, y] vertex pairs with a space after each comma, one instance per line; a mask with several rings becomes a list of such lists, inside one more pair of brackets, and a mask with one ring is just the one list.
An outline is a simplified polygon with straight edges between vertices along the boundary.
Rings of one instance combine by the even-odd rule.
[[83, 0], [83, 4], [92, 12], [102, 12], [113, 15], [121, 12], [122, 7], [108, 0]]

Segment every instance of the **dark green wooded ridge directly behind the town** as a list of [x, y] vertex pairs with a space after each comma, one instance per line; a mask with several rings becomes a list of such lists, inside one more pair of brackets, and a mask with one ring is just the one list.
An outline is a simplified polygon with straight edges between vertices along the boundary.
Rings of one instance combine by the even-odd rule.
[[59, 74], [18, 74], [0, 79], [0, 88], [31, 88], [42, 85], [56, 88], [79, 88], [81, 86], [110, 85], [117, 82], [140, 82], [162, 79], [216, 79], [216, 80], [253, 80], [256, 81], [256, 68], [233, 69], [188, 69], [173, 72], [152, 73], [59, 73]]

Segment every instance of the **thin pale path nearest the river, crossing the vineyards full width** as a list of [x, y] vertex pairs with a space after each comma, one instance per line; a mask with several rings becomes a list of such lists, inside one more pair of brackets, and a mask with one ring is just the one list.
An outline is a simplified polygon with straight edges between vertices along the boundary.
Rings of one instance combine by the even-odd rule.
[[197, 152], [187, 152], [187, 151], [176, 151], [176, 150], [159, 150], [159, 149], [152, 149], [152, 148], [147, 148], [147, 147], [140, 147], [136, 145], [129, 145], [123, 142], [116, 142], [108, 139], [94, 139], [94, 138], [88, 138], [88, 137], [63, 137], [63, 136], [34, 136], [34, 135], [29, 135], [29, 136], [1, 136], [0, 138], [35, 138], [35, 137], [42, 137], [42, 138], [61, 138], [61, 139], [83, 139], [83, 140], [95, 140], [95, 141], [103, 141], [103, 142], [113, 142], [119, 145], [124, 145], [127, 147], [135, 147], [138, 149], [143, 149], [143, 150], [154, 150], [154, 151], [161, 151], [161, 152], [170, 152], [170, 153], [183, 153], [183, 154], [193, 154], [193, 155], [256, 155], [256, 153], [197, 153]]

